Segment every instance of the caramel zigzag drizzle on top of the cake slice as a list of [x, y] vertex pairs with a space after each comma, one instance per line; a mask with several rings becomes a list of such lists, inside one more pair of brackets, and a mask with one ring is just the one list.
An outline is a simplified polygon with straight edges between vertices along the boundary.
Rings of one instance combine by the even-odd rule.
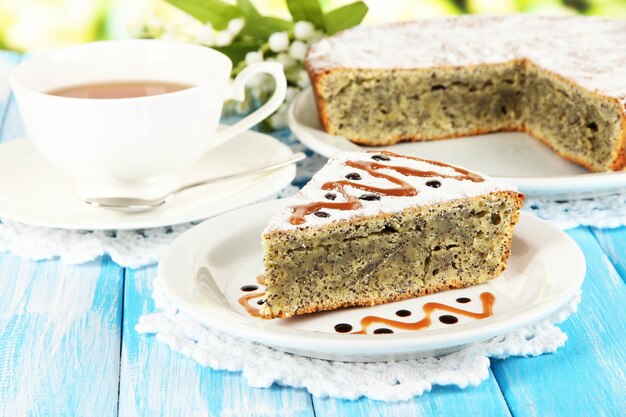
[[404, 159], [410, 159], [413, 161], [420, 161], [420, 162], [426, 162], [435, 166], [439, 166], [439, 167], [445, 167], [445, 168], [450, 168], [453, 169], [455, 172], [459, 173], [459, 175], [445, 175], [445, 174], [440, 174], [438, 172], [435, 171], [422, 171], [419, 169], [414, 169], [414, 168], [409, 168], [409, 167], [402, 167], [402, 166], [391, 166], [391, 165], [385, 165], [385, 164], [381, 164], [378, 162], [369, 162], [369, 161], [346, 161], [344, 162], [345, 165], [355, 168], [355, 169], [359, 169], [362, 171], [367, 172], [368, 174], [370, 174], [373, 177], [376, 178], [383, 178], [386, 179], [387, 181], [398, 185], [399, 187], [395, 187], [395, 188], [380, 188], [380, 187], [374, 187], [371, 185], [367, 185], [367, 184], [361, 184], [358, 182], [354, 182], [354, 181], [349, 181], [349, 180], [339, 180], [339, 181], [329, 181], [326, 182], [322, 185], [322, 189], [323, 190], [336, 190], [337, 192], [339, 192], [341, 195], [344, 196], [344, 198], [346, 199], [346, 201], [343, 202], [330, 202], [330, 201], [317, 201], [314, 203], [309, 203], [309, 204], [301, 204], [298, 206], [293, 206], [293, 214], [291, 215], [291, 217], [289, 218], [289, 223], [293, 224], [293, 225], [300, 225], [300, 224], [304, 224], [306, 222], [306, 219], [304, 216], [307, 216], [309, 214], [313, 214], [316, 211], [322, 209], [322, 208], [328, 208], [328, 209], [335, 209], [335, 210], [356, 210], [362, 207], [361, 202], [359, 201], [358, 198], [356, 198], [355, 196], [349, 194], [346, 190], [345, 187], [346, 186], [351, 186], [353, 188], [357, 188], [359, 190], [363, 190], [363, 191], [369, 191], [372, 193], [376, 193], [376, 194], [381, 194], [381, 195], [386, 195], [386, 196], [394, 196], [394, 197], [412, 197], [417, 195], [417, 190], [415, 189], [415, 187], [413, 187], [411, 184], [407, 183], [406, 181], [402, 180], [401, 178], [395, 177], [393, 175], [389, 175], [389, 174], [384, 174], [382, 172], [377, 172], [377, 170], [379, 169], [389, 169], [389, 170], [393, 170], [396, 171], [399, 174], [405, 175], [405, 176], [411, 176], [411, 177], [423, 177], [423, 178], [430, 178], [430, 177], [439, 177], [439, 178], [452, 178], [455, 180], [468, 180], [468, 181], [472, 181], [472, 182], [483, 182], [484, 178], [482, 178], [479, 175], [476, 175], [472, 172], [469, 172], [463, 168], [458, 168], [452, 165], [448, 165], [446, 163], [443, 162], [438, 162], [438, 161], [430, 161], [428, 159], [420, 159], [420, 158], [415, 158], [415, 157], [411, 157], [411, 156], [405, 156], [405, 155], [398, 155], [395, 154], [393, 152], [389, 152], [389, 151], [369, 151], [369, 153], [378, 153], [378, 154], [382, 154], [382, 155], [386, 155], [386, 156], [392, 156], [392, 157], [396, 157], [396, 158], [404, 158]]

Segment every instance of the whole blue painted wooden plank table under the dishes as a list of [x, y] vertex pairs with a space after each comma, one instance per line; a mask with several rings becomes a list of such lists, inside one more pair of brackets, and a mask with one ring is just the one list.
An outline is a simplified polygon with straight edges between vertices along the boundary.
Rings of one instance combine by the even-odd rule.
[[[24, 135], [0, 52], [0, 142]], [[492, 360], [478, 387], [435, 388], [411, 401], [320, 399], [250, 388], [139, 335], [154, 311], [156, 267], [108, 257], [80, 266], [0, 255], [0, 416], [626, 416], [626, 228], [569, 235], [587, 258], [564, 348]]]

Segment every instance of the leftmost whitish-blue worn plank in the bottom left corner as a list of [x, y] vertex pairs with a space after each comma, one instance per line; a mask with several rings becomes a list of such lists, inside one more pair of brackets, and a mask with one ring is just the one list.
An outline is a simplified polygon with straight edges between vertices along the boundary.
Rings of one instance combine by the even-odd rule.
[[0, 255], [0, 415], [116, 414], [122, 279]]

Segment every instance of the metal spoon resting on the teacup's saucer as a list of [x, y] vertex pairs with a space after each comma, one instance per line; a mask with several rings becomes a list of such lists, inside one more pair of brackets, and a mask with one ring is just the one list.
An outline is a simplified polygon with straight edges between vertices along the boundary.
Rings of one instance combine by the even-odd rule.
[[144, 199], [133, 197], [88, 197], [84, 201], [95, 207], [103, 207], [113, 210], [122, 211], [146, 211], [155, 207], [159, 207], [168, 201], [170, 201], [175, 194], [188, 190], [190, 188], [199, 187], [201, 185], [213, 184], [220, 181], [233, 180], [236, 178], [247, 177], [250, 175], [263, 174], [265, 172], [274, 171], [279, 168], [286, 167], [295, 162], [301, 161], [306, 158], [303, 152], [298, 152], [291, 155], [289, 158], [282, 159], [280, 161], [272, 162], [266, 165], [262, 165], [257, 168], [248, 169], [245, 171], [235, 172], [233, 174], [223, 175], [220, 177], [207, 178], [204, 180], [195, 181], [189, 184], [185, 184], [175, 190], [169, 191], [167, 194], [156, 198]]

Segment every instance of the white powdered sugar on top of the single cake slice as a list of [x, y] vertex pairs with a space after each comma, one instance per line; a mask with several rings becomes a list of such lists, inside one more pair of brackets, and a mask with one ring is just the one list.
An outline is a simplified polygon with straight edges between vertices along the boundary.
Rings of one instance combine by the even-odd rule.
[[[328, 163], [311, 178], [311, 181], [304, 186], [297, 194], [291, 197], [285, 207], [279, 211], [269, 222], [265, 232], [272, 230], [295, 230], [298, 228], [318, 227], [333, 221], [350, 219], [358, 216], [375, 216], [381, 212], [397, 213], [409, 207], [425, 206], [445, 201], [456, 200], [465, 197], [475, 197], [488, 194], [493, 191], [515, 191], [516, 188], [502, 181], [482, 175], [483, 182], [472, 182], [470, 180], [457, 180], [443, 177], [415, 177], [405, 176], [391, 169], [381, 169], [378, 172], [401, 178], [417, 190], [414, 197], [395, 197], [381, 195], [379, 201], [359, 200], [362, 207], [356, 210], [337, 210], [324, 208], [323, 211], [330, 214], [329, 217], [317, 217], [307, 215], [306, 222], [295, 226], [289, 222], [293, 214], [293, 206], [308, 204], [316, 201], [329, 201], [324, 196], [329, 191], [323, 190], [322, 185], [329, 181], [345, 179], [350, 173], [358, 173], [361, 180], [356, 182], [372, 185], [381, 188], [395, 188], [396, 184], [384, 178], [376, 178], [365, 171], [347, 166], [346, 161], [372, 161], [373, 153], [366, 152], [343, 152], [336, 154], [328, 160]], [[443, 176], [460, 176], [460, 174], [450, 167], [440, 167], [428, 162], [415, 161], [412, 159], [390, 156], [389, 161], [382, 162], [384, 165], [409, 167], [423, 171], [434, 171]], [[439, 188], [432, 188], [426, 185], [428, 181], [437, 180], [441, 183]], [[346, 186], [346, 191], [356, 197], [368, 194], [366, 191]], [[341, 193], [336, 193], [333, 202], [345, 201]]]

